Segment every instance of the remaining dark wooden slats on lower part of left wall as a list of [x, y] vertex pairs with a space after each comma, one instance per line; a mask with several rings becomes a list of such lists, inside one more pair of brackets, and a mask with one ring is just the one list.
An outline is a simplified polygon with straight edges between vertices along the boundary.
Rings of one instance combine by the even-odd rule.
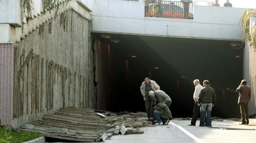
[[[90, 106], [86, 90], [90, 78], [76, 72], [72, 76], [71, 69], [41, 58], [33, 49], [27, 56], [25, 53], [25, 49], [14, 47], [13, 118], [52, 110], [56, 102], [58, 107]], [[55, 86], [61, 86], [60, 92], [54, 91]], [[62, 104], [54, 98], [58, 94]]]

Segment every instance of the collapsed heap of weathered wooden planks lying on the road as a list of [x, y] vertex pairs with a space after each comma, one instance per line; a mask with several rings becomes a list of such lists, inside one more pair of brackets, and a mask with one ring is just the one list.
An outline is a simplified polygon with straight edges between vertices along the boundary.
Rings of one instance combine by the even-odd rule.
[[125, 134], [141, 134], [144, 131], [140, 131], [139, 128], [152, 126], [151, 122], [146, 121], [145, 113], [100, 112], [106, 118], [98, 116], [99, 112], [93, 109], [64, 107], [54, 115], [45, 114], [42, 120], [33, 124], [33, 128], [23, 126], [20, 130], [40, 132], [46, 137], [58, 139], [100, 142], [101, 139], [105, 140], [106, 136], [110, 138], [119, 134], [122, 125], [127, 129]]

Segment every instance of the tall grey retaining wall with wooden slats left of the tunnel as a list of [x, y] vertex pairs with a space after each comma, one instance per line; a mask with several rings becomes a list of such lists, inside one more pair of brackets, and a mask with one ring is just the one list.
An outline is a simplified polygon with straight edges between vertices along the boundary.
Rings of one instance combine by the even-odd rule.
[[12, 47], [13, 115], [6, 123], [16, 128], [64, 106], [96, 108], [91, 27], [68, 10]]

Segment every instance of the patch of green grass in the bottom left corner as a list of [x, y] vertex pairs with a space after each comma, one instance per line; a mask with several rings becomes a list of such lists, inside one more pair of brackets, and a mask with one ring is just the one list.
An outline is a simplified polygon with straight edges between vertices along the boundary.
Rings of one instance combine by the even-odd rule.
[[0, 143], [21, 143], [39, 138], [41, 135], [34, 132], [9, 132], [5, 127], [0, 127]]

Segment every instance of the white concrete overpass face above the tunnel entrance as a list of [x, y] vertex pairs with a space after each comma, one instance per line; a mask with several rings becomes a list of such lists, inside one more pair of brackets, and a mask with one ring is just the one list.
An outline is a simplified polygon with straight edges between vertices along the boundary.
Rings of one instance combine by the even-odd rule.
[[194, 6], [194, 19], [144, 17], [144, 3], [97, 0], [92, 5], [92, 32], [240, 41], [244, 9]]

